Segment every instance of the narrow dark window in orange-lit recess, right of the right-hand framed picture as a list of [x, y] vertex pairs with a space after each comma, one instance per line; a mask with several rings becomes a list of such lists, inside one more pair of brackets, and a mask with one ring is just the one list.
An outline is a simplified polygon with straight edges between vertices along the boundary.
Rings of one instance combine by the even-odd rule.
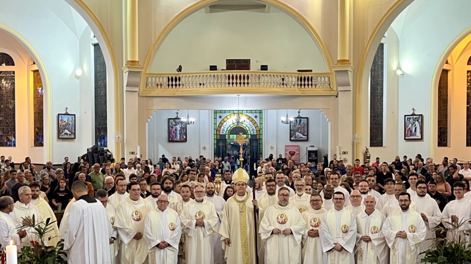
[[[469, 76], [469, 73], [468, 73]], [[469, 77], [468, 77], [469, 79]], [[442, 69], [438, 83], [437, 146], [448, 146], [448, 70]]]

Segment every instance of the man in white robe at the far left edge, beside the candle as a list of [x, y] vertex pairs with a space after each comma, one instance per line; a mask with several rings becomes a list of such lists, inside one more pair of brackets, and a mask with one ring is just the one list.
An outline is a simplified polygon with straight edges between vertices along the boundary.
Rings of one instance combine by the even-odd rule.
[[10, 215], [14, 202], [13, 198], [9, 196], [0, 198], [0, 245], [6, 247], [13, 241], [13, 244], [20, 249], [21, 239], [26, 237], [26, 231], [18, 230], [16, 221]]

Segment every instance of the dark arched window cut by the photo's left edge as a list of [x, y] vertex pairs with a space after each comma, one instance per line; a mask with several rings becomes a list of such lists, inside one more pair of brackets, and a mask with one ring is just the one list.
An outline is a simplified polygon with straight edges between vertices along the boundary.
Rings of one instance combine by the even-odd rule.
[[0, 147], [16, 146], [15, 62], [0, 53]]

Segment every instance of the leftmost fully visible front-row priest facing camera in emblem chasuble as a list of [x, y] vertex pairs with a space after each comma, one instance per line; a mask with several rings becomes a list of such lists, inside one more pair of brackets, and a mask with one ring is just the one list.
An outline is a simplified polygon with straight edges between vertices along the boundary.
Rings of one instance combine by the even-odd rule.
[[149, 211], [149, 206], [140, 196], [140, 192], [139, 183], [130, 182], [129, 197], [120, 202], [116, 208], [113, 225], [118, 230], [119, 258], [122, 264], [147, 262], [147, 243], [142, 238], [144, 218]]

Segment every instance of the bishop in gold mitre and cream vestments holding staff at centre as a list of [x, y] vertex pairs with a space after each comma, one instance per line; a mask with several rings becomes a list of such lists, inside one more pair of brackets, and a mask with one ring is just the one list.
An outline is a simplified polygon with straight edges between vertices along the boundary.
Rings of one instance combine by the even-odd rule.
[[254, 206], [258, 208], [258, 202], [245, 191], [249, 180], [245, 170], [237, 169], [232, 179], [235, 194], [226, 201], [219, 228], [224, 259], [227, 264], [253, 264], [256, 258]]

